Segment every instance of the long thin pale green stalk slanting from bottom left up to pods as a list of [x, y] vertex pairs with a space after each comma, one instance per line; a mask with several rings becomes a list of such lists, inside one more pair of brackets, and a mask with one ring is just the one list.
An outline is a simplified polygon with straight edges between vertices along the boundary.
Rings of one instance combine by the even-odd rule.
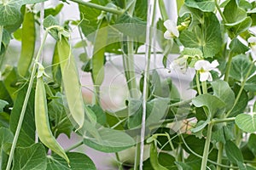
[[25, 97], [25, 99], [24, 99], [24, 103], [23, 103], [23, 105], [22, 105], [22, 109], [21, 109], [21, 112], [20, 112], [20, 119], [19, 119], [19, 122], [18, 122], [18, 125], [17, 125], [17, 128], [16, 128], [15, 138], [14, 138], [14, 141], [13, 141], [13, 144], [12, 144], [12, 147], [11, 147], [11, 150], [10, 150], [10, 153], [9, 153], [9, 160], [8, 160], [8, 163], [7, 163], [6, 170], [9, 170], [9, 169], [10, 169], [12, 160], [13, 160], [13, 158], [14, 158], [15, 147], [16, 147], [16, 144], [17, 144], [17, 141], [18, 141], [18, 138], [19, 138], [21, 125], [22, 125], [22, 122], [23, 122], [23, 119], [24, 119], [24, 116], [25, 116], [26, 105], [27, 105], [28, 99], [29, 99], [30, 94], [31, 94], [32, 84], [33, 84], [33, 80], [34, 80], [34, 77], [35, 77], [35, 74], [36, 74], [37, 62], [38, 62], [38, 59], [39, 59], [39, 57], [40, 57], [40, 54], [42, 53], [42, 50], [43, 50], [43, 48], [44, 48], [44, 42], [45, 42], [46, 37], [47, 37], [47, 35], [48, 35], [48, 31], [49, 31], [49, 30], [47, 30], [47, 31], [45, 32], [45, 34], [44, 34], [43, 42], [42, 42], [42, 44], [41, 44], [41, 46], [40, 46], [40, 48], [39, 48], [39, 50], [38, 50], [38, 55], [36, 56], [36, 59], [35, 59], [34, 64], [33, 64], [31, 77], [30, 77], [29, 84], [28, 84], [28, 88], [27, 88], [27, 91], [26, 91], [26, 97]]

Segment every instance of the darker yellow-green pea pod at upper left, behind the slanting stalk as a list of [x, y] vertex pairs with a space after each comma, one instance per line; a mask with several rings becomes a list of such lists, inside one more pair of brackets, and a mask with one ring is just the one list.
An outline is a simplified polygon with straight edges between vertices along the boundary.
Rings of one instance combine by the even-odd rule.
[[26, 77], [32, 62], [36, 42], [35, 18], [32, 12], [26, 12], [24, 15], [21, 40], [21, 52], [17, 69], [21, 77]]

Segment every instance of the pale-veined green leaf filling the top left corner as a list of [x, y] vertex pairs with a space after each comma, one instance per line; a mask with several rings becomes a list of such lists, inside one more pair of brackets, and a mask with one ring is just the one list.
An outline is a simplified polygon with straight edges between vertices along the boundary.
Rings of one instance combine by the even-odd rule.
[[13, 26], [22, 20], [21, 4], [21, 0], [10, 0], [5, 4], [0, 4], [0, 26]]

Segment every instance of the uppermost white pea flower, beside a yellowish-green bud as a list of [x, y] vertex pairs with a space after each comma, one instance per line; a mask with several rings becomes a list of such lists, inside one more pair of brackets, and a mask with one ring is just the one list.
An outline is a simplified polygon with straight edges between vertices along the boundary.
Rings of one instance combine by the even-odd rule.
[[164, 37], [166, 39], [172, 39], [173, 37], [179, 36], [179, 32], [177, 31], [176, 23], [173, 20], [166, 20], [164, 22], [164, 26], [167, 29], [167, 31], [164, 34]]

